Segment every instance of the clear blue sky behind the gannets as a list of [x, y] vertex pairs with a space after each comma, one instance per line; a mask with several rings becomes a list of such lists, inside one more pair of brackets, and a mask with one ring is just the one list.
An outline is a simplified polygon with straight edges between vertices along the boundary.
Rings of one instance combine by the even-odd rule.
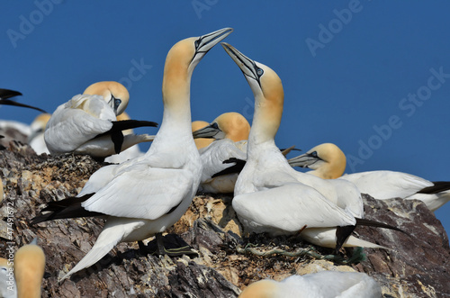
[[[225, 41], [283, 80], [279, 147], [334, 142], [347, 173], [450, 180], [449, 3], [37, 0], [0, 9], [0, 87], [22, 92], [21, 103], [51, 113], [86, 86], [115, 80], [130, 90], [132, 118], [161, 122], [167, 51], [232, 27]], [[231, 111], [251, 120], [251, 90], [220, 46], [195, 69], [191, 98], [193, 120]], [[0, 108], [6, 120], [37, 114]], [[447, 231], [449, 212], [450, 204], [436, 212]]]

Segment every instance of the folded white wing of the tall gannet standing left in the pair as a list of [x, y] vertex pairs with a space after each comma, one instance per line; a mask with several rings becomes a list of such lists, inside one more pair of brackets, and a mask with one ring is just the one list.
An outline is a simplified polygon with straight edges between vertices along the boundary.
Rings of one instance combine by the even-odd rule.
[[127, 167], [82, 206], [91, 212], [117, 217], [155, 220], [192, 192], [193, 176], [186, 169]]

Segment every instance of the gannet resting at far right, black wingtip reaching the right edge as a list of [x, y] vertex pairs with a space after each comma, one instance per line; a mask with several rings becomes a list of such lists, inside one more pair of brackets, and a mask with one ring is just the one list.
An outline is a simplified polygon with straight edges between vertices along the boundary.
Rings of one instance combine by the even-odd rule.
[[289, 159], [293, 167], [309, 167], [308, 174], [324, 179], [344, 179], [355, 184], [363, 194], [375, 199], [403, 198], [420, 200], [436, 211], [450, 201], [450, 182], [431, 182], [419, 176], [394, 171], [369, 171], [344, 175], [346, 156], [335, 144], [324, 143], [305, 154]]

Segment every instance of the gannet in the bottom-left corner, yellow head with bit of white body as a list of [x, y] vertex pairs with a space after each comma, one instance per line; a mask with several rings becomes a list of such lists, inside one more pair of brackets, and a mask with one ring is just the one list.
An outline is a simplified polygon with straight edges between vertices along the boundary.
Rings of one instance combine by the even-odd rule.
[[0, 258], [0, 295], [10, 298], [40, 298], [45, 255], [37, 239], [19, 248], [14, 258]]

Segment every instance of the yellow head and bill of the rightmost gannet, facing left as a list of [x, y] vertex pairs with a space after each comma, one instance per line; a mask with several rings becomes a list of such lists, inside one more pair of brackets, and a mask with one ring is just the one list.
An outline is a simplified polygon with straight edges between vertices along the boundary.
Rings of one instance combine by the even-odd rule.
[[320, 144], [298, 156], [289, 159], [292, 167], [308, 167], [311, 174], [323, 179], [336, 179], [346, 170], [347, 158], [344, 152], [332, 143]]

